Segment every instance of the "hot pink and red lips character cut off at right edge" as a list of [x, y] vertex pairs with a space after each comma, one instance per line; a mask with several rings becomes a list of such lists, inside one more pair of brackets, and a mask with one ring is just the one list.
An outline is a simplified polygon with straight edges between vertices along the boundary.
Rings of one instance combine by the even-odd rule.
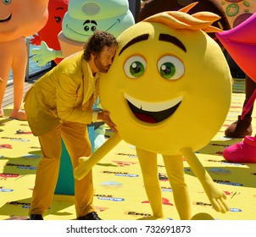
[[[256, 55], [256, 14], [243, 21], [231, 30], [216, 33], [227, 52], [248, 74], [248, 76], [256, 82], [255, 72], [255, 55]], [[241, 119], [253, 107], [256, 98], [256, 90], [243, 107]], [[256, 163], [256, 137], [246, 135], [243, 141], [225, 148], [223, 157], [230, 162], [235, 163]]]

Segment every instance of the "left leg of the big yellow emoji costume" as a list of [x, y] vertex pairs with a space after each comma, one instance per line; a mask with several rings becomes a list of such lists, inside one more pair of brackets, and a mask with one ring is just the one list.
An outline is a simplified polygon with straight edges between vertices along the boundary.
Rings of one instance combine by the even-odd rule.
[[159, 185], [157, 154], [136, 147], [136, 153], [142, 169], [147, 198], [155, 218], [163, 218], [162, 193]]

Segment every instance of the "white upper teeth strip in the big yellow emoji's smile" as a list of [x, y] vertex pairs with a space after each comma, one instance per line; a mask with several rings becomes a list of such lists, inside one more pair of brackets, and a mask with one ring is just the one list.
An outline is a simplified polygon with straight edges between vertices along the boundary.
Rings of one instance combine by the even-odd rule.
[[166, 102], [143, 102], [127, 94], [125, 94], [125, 99], [131, 102], [131, 104], [133, 104], [135, 107], [139, 109], [142, 109], [148, 112], [159, 112], [159, 111], [169, 109], [170, 107], [174, 107], [176, 104], [182, 101], [183, 96], [176, 97], [175, 99], [172, 99]]

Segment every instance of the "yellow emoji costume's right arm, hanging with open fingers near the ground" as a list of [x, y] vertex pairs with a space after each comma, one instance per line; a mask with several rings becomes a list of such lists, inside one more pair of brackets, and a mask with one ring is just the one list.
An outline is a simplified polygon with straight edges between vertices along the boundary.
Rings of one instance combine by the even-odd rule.
[[186, 162], [192, 168], [192, 171], [198, 177], [199, 181], [203, 185], [203, 190], [209, 198], [209, 201], [214, 207], [216, 212], [225, 213], [229, 211], [229, 207], [225, 203], [225, 193], [220, 191], [214, 184], [213, 179], [209, 176], [202, 163], [198, 160], [198, 157], [192, 151], [191, 148], [182, 148], [182, 155], [186, 157]]

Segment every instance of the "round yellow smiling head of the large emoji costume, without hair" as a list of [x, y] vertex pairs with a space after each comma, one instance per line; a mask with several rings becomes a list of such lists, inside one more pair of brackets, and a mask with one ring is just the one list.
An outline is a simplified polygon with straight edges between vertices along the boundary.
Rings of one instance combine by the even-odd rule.
[[118, 41], [100, 97], [121, 138], [164, 155], [205, 146], [231, 102], [231, 74], [217, 43], [202, 30], [156, 22], [137, 23]]

